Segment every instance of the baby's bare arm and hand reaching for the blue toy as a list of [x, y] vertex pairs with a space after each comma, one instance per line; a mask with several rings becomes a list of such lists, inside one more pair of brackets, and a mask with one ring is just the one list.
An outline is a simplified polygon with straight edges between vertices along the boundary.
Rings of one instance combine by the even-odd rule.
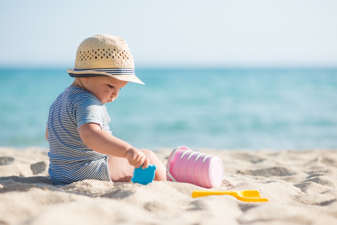
[[92, 150], [126, 158], [130, 165], [135, 168], [145, 169], [149, 166], [149, 159], [145, 154], [129, 143], [101, 130], [97, 123], [85, 123], [79, 128], [83, 142]]

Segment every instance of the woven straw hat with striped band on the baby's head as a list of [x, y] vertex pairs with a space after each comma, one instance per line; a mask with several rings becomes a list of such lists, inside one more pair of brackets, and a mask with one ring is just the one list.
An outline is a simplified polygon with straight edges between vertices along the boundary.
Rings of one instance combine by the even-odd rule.
[[82, 41], [77, 49], [70, 77], [113, 77], [144, 84], [134, 75], [134, 62], [126, 41], [109, 34], [97, 34]]

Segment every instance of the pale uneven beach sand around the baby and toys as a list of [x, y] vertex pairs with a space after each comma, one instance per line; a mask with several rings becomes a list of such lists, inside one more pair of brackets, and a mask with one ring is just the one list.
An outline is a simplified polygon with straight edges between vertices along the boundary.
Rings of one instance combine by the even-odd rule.
[[[48, 149], [0, 147], [0, 224], [337, 224], [337, 150], [192, 150], [222, 160], [212, 190], [259, 190], [270, 201], [192, 198], [206, 189], [170, 181], [57, 186]], [[164, 165], [171, 151], [156, 151]]]

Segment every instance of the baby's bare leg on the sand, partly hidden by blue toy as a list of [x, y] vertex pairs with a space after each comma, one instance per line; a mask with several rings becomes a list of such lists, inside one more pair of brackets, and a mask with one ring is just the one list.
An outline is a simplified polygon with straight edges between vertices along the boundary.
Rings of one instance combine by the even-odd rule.
[[[140, 149], [143, 151], [150, 163], [157, 166], [154, 180], [166, 180], [166, 168], [160, 162], [158, 157], [149, 149]], [[111, 156], [108, 160], [110, 178], [114, 182], [130, 182], [134, 167], [129, 164], [127, 159]]]

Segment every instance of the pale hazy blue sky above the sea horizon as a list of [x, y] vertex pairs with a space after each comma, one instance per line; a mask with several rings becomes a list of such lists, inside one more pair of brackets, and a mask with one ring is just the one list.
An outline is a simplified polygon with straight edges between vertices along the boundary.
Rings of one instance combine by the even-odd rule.
[[6, 1], [0, 66], [72, 68], [95, 34], [137, 67], [337, 67], [336, 0]]

